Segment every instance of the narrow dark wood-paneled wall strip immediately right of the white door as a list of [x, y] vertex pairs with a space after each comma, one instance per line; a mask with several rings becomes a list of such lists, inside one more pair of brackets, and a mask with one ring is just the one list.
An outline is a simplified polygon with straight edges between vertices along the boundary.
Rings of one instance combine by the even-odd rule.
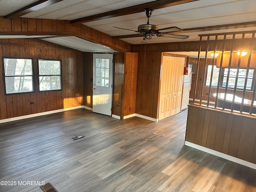
[[124, 93], [124, 53], [114, 55], [114, 90], [112, 114], [123, 116], [123, 93]]

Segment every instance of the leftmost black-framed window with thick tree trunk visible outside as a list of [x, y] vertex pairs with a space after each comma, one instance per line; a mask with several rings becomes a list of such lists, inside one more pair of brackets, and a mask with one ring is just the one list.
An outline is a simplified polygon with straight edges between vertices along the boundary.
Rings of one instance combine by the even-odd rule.
[[31, 58], [2, 57], [6, 94], [33, 92]]

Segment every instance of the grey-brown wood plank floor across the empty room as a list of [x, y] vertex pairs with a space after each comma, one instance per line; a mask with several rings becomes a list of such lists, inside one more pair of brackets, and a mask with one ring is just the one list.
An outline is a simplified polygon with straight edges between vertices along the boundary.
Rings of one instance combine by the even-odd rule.
[[31, 181], [59, 192], [256, 191], [256, 170], [184, 146], [186, 119], [79, 109], [0, 124], [0, 181], [16, 181], [0, 192], [41, 192]]

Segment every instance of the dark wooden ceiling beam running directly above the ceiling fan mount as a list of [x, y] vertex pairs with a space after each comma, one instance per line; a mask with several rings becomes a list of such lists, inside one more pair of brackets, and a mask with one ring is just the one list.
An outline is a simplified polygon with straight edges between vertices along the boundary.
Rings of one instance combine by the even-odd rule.
[[157, 1], [135, 5], [131, 7], [126, 7], [126, 8], [122, 8], [114, 11], [100, 13], [100, 14], [96, 14], [88, 17], [74, 19], [74, 20], [71, 20], [71, 23], [86, 23], [90, 21], [96, 21], [96, 20], [102, 20], [102, 19], [107, 19], [112, 17], [144, 12], [145, 8], [160, 9], [160, 8], [180, 5], [180, 4], [194, 2], [194, 1], [198, 1], [198, 0], [157, 0]]

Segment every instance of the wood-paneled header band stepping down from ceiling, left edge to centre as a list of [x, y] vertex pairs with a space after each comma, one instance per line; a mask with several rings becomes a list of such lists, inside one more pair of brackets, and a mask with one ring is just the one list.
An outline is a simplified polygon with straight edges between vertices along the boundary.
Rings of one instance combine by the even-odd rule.
[[[21, 33], [22, 32], [22, 33]], [[66, 34], [64, 34], [65, 32]], [[0, 16], [0, 35], [16, 34], [52, 34], [74, 35], [86, 40], [99, 43], [121, 52], [131, 50], [131, 44], [119, 39], [113, 39], [107, 34], [97, 31], [83, 24], [71, 24], [68, 20], [15, 18], [4, 19]]]

